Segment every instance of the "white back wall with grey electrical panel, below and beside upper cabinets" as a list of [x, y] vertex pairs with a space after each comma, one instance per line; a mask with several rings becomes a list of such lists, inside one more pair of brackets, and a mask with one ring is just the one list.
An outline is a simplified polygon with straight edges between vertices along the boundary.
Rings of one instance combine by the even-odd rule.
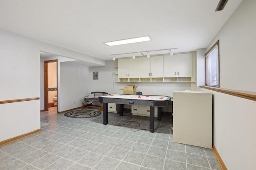
[[[138, 86], [136, 92], [151, 95], [172, 96], [174, 90], [191, 90], [191, 83], [189, 82], [116, 82], [115, 75], [113, 75], [113, 72], [116, 72], [115, 62], [116, 61], [107, 61], [106, 66], [89, 67], [89, 93], [102, 91], [109, 94], [122, 94], [124, 85], [133, 84]], [[92, 73], [95, 71], [99, 72], [98, 80], [92, 80]], [[129, 108], [129, 106], [125, 107]], [[172, 112], [172, 109], [171, 107], [162, 108], [162, 111]]]

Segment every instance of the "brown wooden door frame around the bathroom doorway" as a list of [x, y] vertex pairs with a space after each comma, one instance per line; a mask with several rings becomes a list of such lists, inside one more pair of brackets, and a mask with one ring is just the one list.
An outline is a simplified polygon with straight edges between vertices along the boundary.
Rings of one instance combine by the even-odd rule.
[[57, 112], [58, 112], [58, 60], [48, 60], [44, 61], [44, 111], [48, 111], [48, 63], [57, 62], [56, 65], [56, 74], [57, 74]]

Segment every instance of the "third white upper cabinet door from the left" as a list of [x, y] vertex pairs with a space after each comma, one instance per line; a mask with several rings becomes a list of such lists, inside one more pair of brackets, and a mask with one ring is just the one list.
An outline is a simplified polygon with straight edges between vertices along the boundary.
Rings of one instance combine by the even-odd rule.
[[150, 58], [139, 58], [139, 75], [140, 78], [150, 78]]

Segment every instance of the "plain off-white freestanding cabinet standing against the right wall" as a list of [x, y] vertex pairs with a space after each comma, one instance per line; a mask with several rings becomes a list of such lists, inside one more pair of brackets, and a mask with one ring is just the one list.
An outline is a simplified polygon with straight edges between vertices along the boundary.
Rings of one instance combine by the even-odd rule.
[[173, 92], [173, 142], [212, 148], [212, 94]]

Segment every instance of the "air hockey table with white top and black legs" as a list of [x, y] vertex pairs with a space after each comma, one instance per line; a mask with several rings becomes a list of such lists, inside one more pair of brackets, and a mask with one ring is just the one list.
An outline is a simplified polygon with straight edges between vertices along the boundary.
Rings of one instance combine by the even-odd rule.
[[120, 115], [123, 115], [123, 106], [140, 105], [150, 106], [149, 131], [154, 132], [154, 107], [158, 107], [157, 119], [161, 119], [161, 108], [171, 104], [170, 96], [153, 96], [153, 95], [131, 95], [131, 94], [108, 94], [98, 97], [99, 102], [103, 103], [103, 123], [108, 124], [108, 103], [120, 104]]

